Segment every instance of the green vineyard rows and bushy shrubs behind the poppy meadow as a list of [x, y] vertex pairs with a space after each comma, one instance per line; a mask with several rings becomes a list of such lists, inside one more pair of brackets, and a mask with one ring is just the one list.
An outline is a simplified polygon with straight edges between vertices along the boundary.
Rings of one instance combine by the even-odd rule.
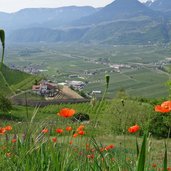
[[[98, 105], [98, 102], [95, 106], [92, 106], [90, 103], [49, 105], [39, 108], [35, 117], [35, 122], [42, 122], [44, 120], [49, 120], [50, 122], [54, 120], [54, 122], [57, 122], [58, 125], [61, 124], [62, 126], [63, 123], [60, 123], [57, 120], [57, 113], [60, 109], [68, 107], [74, 108], [77, 113], [87, 113], [90, 116], [91, 124], [94, 124]], [[27, 109], [24, 106], [14, 106], [11, 114], [12, 116], [21, 118], [23, 121], [26, 121], [26, 110]], [[28, 108], [29, 118], [32, 117], [33, 110], [34, 108]], [[117, 135], [118, 133], [121, 133], [120, 131], [122, 129], [125, 129], [125, 127], [129, 127], [131, 124], [134, 124], [136, 122], [141, 123], [141, 126], [144, 129], [147, 129], [147, 123], [143, 123], [143, 121], [148, 118], [149, 113], [151, 113], [151, 116], [154, 113], [153, 106], [150, 104], [127, 100], [125, 101], [125, 106], [123, 107], [120, 100], [105, 101], [100, 112], [98, 113], [100, 129], [95, 130], [95, 132], [100, 135]], [[125, 120], [124, 118], [127, 118], [127, 120]], [[120, 124], [118, 125], [118, 123]]]

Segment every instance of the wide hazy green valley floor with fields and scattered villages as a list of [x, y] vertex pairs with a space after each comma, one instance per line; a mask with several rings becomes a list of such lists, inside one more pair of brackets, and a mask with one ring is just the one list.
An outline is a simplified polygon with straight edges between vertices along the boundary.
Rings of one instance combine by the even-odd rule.
[[[166, 97], [169, 74], [160, 70], [169, 62], [169, 45], [155, 46], [103, 46], [79, 44], [15, 44], [6, 49], [6, 63], [11, 66], [31, 66], [55, 82], [82, 80], [84, 91], [102, 90], [104, 76], [111, 76], [108, 97], [125, 89], [131, 96]], [[164, 63], [164, 64], [163, 64]], [[124, 64], [119, 71], [112, 64]], [[70, 78], [70, 75], [77, 78]]]

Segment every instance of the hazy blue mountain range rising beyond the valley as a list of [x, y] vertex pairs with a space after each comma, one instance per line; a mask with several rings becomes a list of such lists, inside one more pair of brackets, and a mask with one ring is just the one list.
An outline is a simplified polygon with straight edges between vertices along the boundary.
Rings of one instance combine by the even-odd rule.
[[170, 0], [115, 0], [103, 8], [32, 8], [0, 12], [0, 27], [11, 42], [168, 43], [170, 9]]

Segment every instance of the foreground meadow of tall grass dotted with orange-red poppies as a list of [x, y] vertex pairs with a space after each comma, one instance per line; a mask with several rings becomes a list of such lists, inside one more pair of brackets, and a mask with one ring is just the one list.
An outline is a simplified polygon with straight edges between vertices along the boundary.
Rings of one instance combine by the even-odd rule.
[[[151, 118], [145, 121], [146, 128], [141, 127], [142, 123], [128, 123], [129, 126], [123, 127], [125, 130], [121, 129], [120, 143], [108, 142], [105, 137], [109, 135], [99, 131], [102, 126], [99, 113], [107, 107], [104, 104], [104, 99], [98, 102], [93, 111], [95, 120], [86, 122], [73, 122], [76, 109], [62, 107], [53, 114], [54, 123], [41, 120], [35, 124], [39, 108], [34, 109], [28, 122], [3, 123], [0, 128], [1, 170], [171, 170], [170, 127], [168, 138], [160, 140], [161, 149], [148, 131]], [[171, 101], [156, 105], [153, 110], [162, 117], [170, 116]], [[109, 134], [112, 136], [111, 132]], [[113, 133], [113, 137], [117, 135]]]

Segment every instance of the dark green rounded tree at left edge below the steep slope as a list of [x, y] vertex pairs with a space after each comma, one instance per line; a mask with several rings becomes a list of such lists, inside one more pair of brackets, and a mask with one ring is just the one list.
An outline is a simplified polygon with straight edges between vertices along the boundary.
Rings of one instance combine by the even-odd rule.
[[9, 99], [4, 97], [3, 95], [0, 95], [0, 111], [2, 113], [8, 112], [12, 109], [12, 104]]

